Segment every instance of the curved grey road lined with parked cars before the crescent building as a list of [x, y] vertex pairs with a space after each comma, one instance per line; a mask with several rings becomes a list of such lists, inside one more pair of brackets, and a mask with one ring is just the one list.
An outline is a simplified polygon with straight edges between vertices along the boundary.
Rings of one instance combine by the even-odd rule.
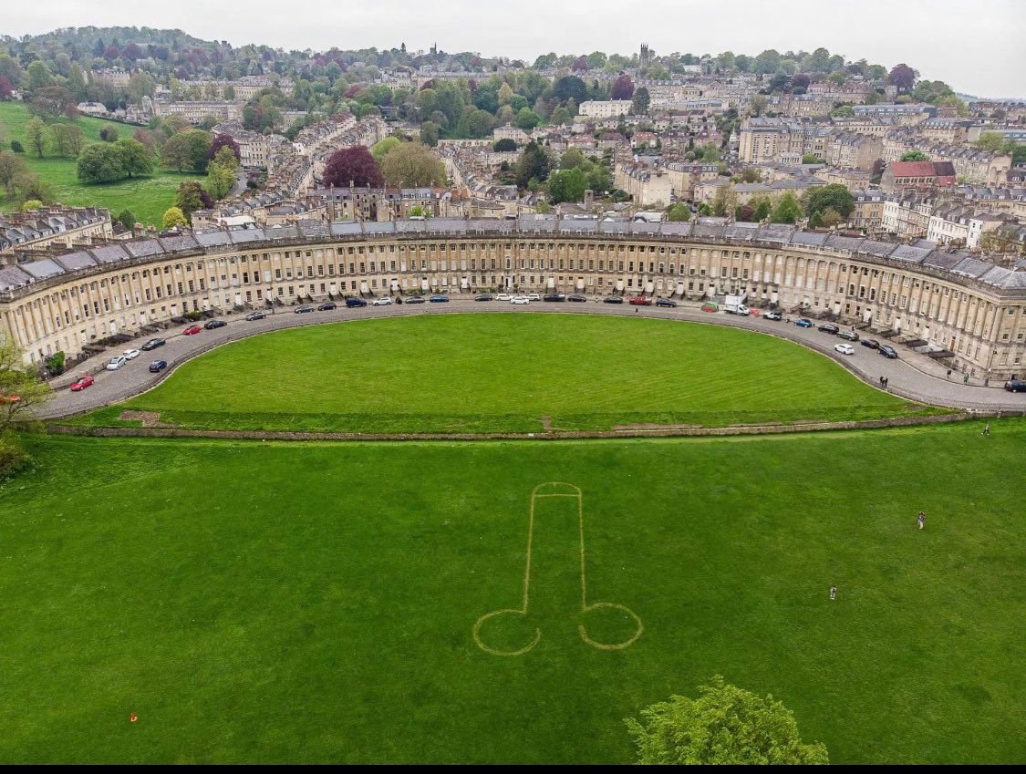
[[[227, 315], [229, 324], [224, 328], [203, 330], [194, 336], [183, 336], [182, 328], [169, 328], [160, 335], [167, 343], [153, 352], [142, 353], [135, 360], [129, 361], [117, 371], [104, 369], [107, 361], [118, 354], [117, 349], [110, 349], [103, 355], [90, 358], [78, 364], [68, 373], [53, 379], [51, 382], [55, 396], [40, 410], [41, 418], [56, 418], [72, 414], [91, 411], [111, 403], [126, 400], [133, 395], [145, 392], [164, 379], [174, 367], [203, 352], [228, 341], [233, 341], [256, 333], [265, 333], [283, 328], [294, 328], [301, 325], [316, 325], [347, 320], [366, 318], [400, 317], [409, 315], [438, 315], [473, 312], [506, 312], [511, 314], [528, 313], [568, 313], [590, 315], [619, 315], [622, 317], [653, 317], [668, 320], [686, 320], [692, 322], [713, 323], [736, 328], [746, 328], [796, 341], [812, 350], [833, 358], [857, 376], [878, 388], [879, 378], [890, 380], [889, 390], [910, 400], [930, 403], [938, 406], [994, 413], [1008, 411], [1026, 413], [1026, 393], [1009, 393], [1000, 389], [985, 388], [976, 384], [963, 384], [961, 374], [952, 374], [952, 379], [945, 377], [945, 369], [930, 358], [913, 350], [891, 342], [898, 351], [899, 359], [890, 360], [877, 352], [858, 342], [854, 344], [855, 355], [844, 356], [834, 352], [833, 345], [842, 339], [828, 333], [821, 333], [815, 327], [799, 328], [786, 322], [773, 322], [760, 317], [736, 317], [723, 313], [704, 313], [696, 305], [680, 305], [676, 309], [658, 307], [635, 308], [627, 303], [609, 304], [589, 301], [587, 303], [573, 302], [542, 302], [532, 301], [528, 305], [512, 305], [508, 301], [477, 302], [471, 297], [453, 298], [448, 303], [401, 304], [390, 307], [363, 307], [348, 309], [340, 305], [329, 312], [311, 312], [294, 314], [291, 308], [277, 309], [275, 314], [269, 314], [265, 320], [247, 322], [241, 314]], [[149, 337], [147, 337], [149, 338]], [[128, 341], [124, 349], [140, 349], [145, 338]], [[168, 367], [159, 374], [149, 372], [148, 365], [152, 360], [166, 360]], [[79, 374], [92, 373], [95, 383], [82, 391], [72, 393], [68, 385]]]

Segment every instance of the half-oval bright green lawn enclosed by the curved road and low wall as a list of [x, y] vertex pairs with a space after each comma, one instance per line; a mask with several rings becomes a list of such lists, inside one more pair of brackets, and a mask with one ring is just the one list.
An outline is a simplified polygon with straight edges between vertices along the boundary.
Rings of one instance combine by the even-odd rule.
[[[245, 325], [244, 322], [233, 323]], [[202, 407], [202, 409], [200, 408]], [[863, 419], [921, 411], [772, 336], [654, 319], [444, 315], [253, 336], [124, 408], [187, 427], [542, 432], [632, 423]]]

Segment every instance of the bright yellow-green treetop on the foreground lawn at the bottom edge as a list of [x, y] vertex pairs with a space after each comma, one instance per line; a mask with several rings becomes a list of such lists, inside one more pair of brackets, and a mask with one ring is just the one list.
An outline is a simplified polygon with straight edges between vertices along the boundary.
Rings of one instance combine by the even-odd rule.
[[794, 714], [720, 677], [697, 699], [671, 696], [626, 720], [641, 764], [827, 764], [826, 745], [806, 744]]

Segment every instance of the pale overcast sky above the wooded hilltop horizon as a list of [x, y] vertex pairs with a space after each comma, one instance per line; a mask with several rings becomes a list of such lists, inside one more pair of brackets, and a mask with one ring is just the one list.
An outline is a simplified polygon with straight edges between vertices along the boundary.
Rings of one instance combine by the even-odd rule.
[[825, 46], [980, 96], [1026, 97], [1026, 0], [4, 0], [0, 32], [177, 28], [286, 49], [756, 54]]

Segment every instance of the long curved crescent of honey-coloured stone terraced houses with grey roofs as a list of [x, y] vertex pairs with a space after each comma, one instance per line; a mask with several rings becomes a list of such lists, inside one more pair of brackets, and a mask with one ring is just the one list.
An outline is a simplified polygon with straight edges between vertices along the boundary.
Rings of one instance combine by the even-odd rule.
[[744, 292], [929, 342], [993, 378], [1022, 373], [1026, 352], [1026, 264], [719, 218], [299, 221], [132, 240], [0, 269], [0, 329], [38, 361], [190, 311], [482, 288]]

